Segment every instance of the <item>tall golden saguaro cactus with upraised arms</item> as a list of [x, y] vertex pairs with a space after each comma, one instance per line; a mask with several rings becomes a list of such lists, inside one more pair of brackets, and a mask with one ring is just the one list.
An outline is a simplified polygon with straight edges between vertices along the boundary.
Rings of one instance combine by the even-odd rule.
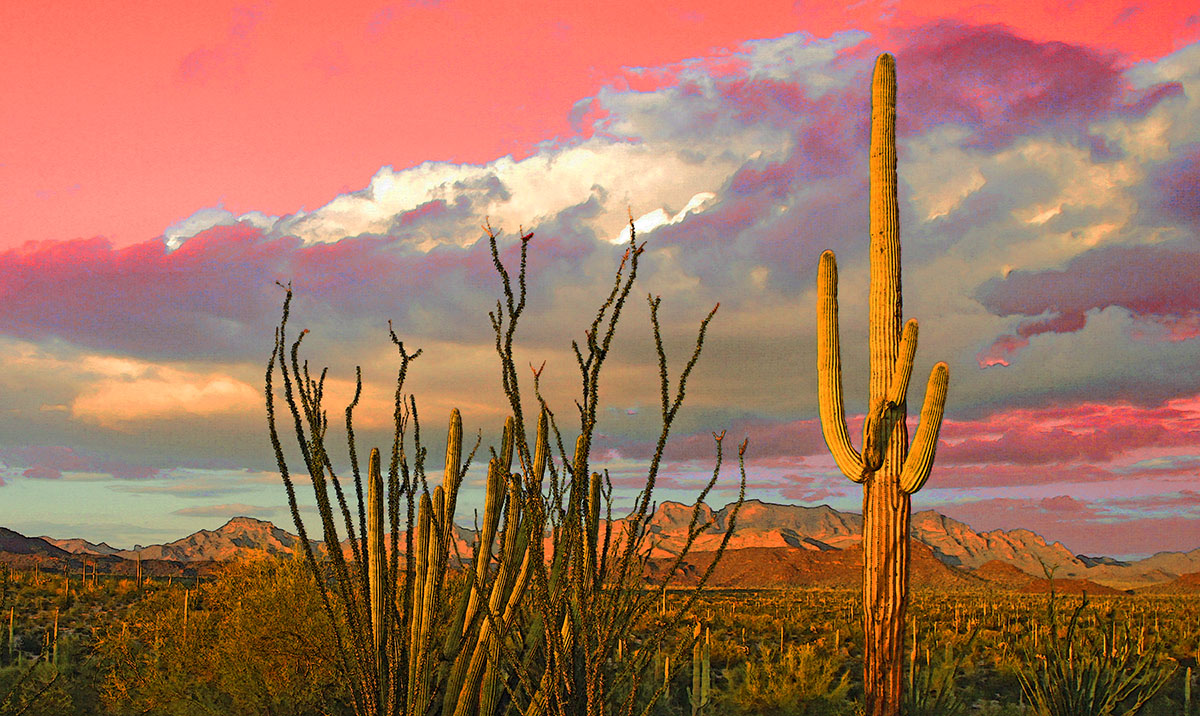
[[838, 263], [832, 251], [821, 254], [817, 273], [821, 428], [838, 467], [863, 485], [863, 685], [869, 716], [900, 714], [910, 495], [920, 489], [934, 465], [949, 383], [946, 363], [935, 365], [910, 449], [906, 395], [917, 351], [917, 321], [910, 320], [901, 331], [895, 107], [895, 60], [880, 55], [871, 88], [871, 360], [862, 452], [851, 445], [846, 428], [838, 342]]

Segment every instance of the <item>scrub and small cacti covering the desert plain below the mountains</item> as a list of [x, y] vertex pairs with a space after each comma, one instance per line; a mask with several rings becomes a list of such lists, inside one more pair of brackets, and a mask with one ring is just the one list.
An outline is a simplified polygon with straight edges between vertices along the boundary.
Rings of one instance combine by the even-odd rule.
[[[7, 622], [0, 630], [0, 714], [354, 712], [299, 554], [233, 562], [198, 583], [152, 578], [138, 589], [133, 579], [100, 574], [70, 589], [61, 573], [11, 573], [6, 606], [14, 620], [11, 639]], [[648, 638], [661, 613], [694, 596], [668, 590], [664, 603], [660, 591], [646, 594], [655, 603], [618, 658]], [[694, 699], [698, 712], [714, 715], [858, 714], [859, 600], [851, 589], [707, 591], [650, 654], [637, 703], [644, 708], [659, 693], [649, 710], [659, 715], [690, 715]], [[1194, 698], [1186, 709], [1188, 678], [1196, 687], [1200, 597], [1056, 595], [1052, 608], [1050, 600], [994, 589], [913, 591], [905, 712], [1196, 712]], [[694, 697], [706, 692], [707, 700]], [[1039, 703], [1084, 696], [1098, 697], [1097, 708]], [[1108, 710], [1100, 703], [1122, 696]], [[1142, 697], [1140, 711], [1129, 711]]]

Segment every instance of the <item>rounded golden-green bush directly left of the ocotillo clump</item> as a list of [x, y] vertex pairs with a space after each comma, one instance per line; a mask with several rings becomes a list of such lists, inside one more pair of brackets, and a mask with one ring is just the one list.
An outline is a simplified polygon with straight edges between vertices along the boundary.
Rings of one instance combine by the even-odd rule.
[[197, 590], [150, 591], [97, 636], [102, 702], [112, 714], [342, 712], [318, 602], [299, 559], [236, 561]]

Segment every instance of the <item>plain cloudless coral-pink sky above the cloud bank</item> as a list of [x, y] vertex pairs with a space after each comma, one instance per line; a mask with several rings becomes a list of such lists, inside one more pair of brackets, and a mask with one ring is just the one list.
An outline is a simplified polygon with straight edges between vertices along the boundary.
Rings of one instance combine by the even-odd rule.
[[846, 5], [8, 2], [0, 246], [124, 246], [200, 206], [314, 209], [383, 164], [522, 157], [570, 137], [571, 106], [623, 68], [784, 32], [886, 46], [930, 20], [1004, 23], [1124, 61], [1200, 36], [1172, 1]]

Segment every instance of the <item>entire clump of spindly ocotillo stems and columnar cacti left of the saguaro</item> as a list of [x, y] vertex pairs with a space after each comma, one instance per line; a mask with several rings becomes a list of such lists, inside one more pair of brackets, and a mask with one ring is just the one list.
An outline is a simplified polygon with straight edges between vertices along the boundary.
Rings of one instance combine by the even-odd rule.
[[[512, 343], [526, 305], [526, 258], [532, 234], [521, 237], [521, 269], [512, 282], [500, 260], [497, 236], [491, 229], [487, 233], [504, 290], [503, 300], [492, 313], [492, 323], [503, 390], [512, 416], [505, 425], [500, 450], [493, 452], [488, 464], [485, 518], [473, 565], [458, 576], [449, 568], [455, 544], [456, 495], [467, 470], [461, 464], [461, 419], [457, 411], [451, 416], [445, 476], [442, 486], [431, 493], [425, 480], [425, 447], [420, 441], [416, 401], [403, 393], [409, 365], [420, 351], [406, 351], [392, 332], [401, 367], [396, 381], [391, 463], [384, 483], [378, 451], [372, 452], [366, 495], [353, 429], [353, 411], [361, 392], [361, 374], [359, 377], [358, 391], [346, 410], [350, 473], [358, 500], [358, 515], [354, 515], [326, 451], [325, 373], [310, 373], [307, 363], [301, 362], [299, 350], [305, 332], [290, 347], [287, 343], [292, 301], [288, 289], [268, 363], [265, 392], [271, 444], [305, 560], [322, 588], [324, 609], [337, 625], [337, 656], [349, 676], [354, 708], [360, 715], [492, 716], [505, 712], [509, 706], [526, 716], [629, 715], [634, 712], [637, 686], [650, 655], [665, 644], [698, 595], [697, 589], [673, 614], [660, 619], [632, 654], [619, 662], [613, 661], [618, 644], [656, 596], [643, 583], [652, 492], [667, 435], [683, 402], [684, 386], [716, 309], [702, 321], [691, 357], [672, 391], [659, 329], [659, 301], [649, 300], [659, 354], [661, 429], [635, 509], [614, 528], [612, 482], [607, 474], [592, 471], [589, 451], [600, 413], [601, 366], [631, 290], [641, 247], [631, 239], [612, 291], [586, 332], [586, 345], [575, 345], [583, 390], [577, 402], [580, 433], [569, 453], [563, 447], [564, 439], [553, 413], [538, 391], [538, 373], [533, 387], [539, 417], [534, 439], [530, 441], [526, 434]], [[276, 374], [282, 383], [278, 391], [274, 386]], [[313, 485], [326, 546], [322, 560], [310, 546], [298, 510], [280, 440], [276, 392], [282, 393], [290, 413], [299, 452]], [[410, 434], [409, 422], [413, 426]], [[655, 585], [659, 590], [665, 589], [666, 580], [678, 571], [695, 538], [708, 527], [700, 522], [700, 507], [720, 470], [722, 435], [714, 435], [716, 468], [692, 512], [686, 547], [676, 556], [664, 582]], [[744, 451], [743, 443], [739, 467]], [[511, 471], [514, 462], [518, 473]], [[547, 473], [548, 491], [544, 491]], [[740, 473], [744, 494], [744, 467]], [[401, 500], [407, 504], [402, 567], [397, 537]], [[601, 528], [602, 507], [607, 515]], [[385, 509], [391, 530], [390, 548], [383, 543]], [[342, 537], [336, 512], [344, 523], [349, 560], [340, 548]], [[737, 510], [730, 518], [718, 556], [724, 552], [736, 517]], [[498, 534], [500, 547], [493, 556]], [[715, 564], [716, 560], [710, 562], [701, 585]], [[532, 598], [523, 602], [526, 594]], [[691, 644], [680, 644], [676, 654], [689, 648]]]

